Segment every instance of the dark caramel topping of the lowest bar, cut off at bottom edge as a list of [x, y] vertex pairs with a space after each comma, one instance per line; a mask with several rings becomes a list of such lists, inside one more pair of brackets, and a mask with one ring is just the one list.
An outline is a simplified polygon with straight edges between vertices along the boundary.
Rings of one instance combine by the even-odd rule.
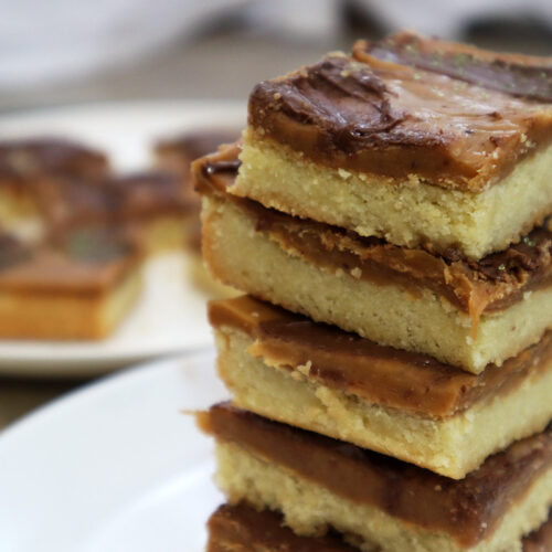
[[[223, 505], [209, 520], [206, 552], [353, 552], [341, 535], [299, 537], [278, 512], [256, 510], [246, 503]], [[410, 549], [408, 549], [410, 550]], [[552, 519], [523, 539], [523, 552], [552, 550]], [[404, 552], [404, 551], [402, 551]]]

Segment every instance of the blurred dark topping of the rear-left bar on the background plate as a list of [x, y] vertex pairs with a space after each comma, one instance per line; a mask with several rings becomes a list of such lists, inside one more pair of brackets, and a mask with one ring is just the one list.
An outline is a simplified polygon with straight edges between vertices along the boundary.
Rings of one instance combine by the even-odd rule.
[[104, 153], [68, 140], [33, 138], [0, 142], [0, 179], [52, 174], [94, 178], [106, 170]]

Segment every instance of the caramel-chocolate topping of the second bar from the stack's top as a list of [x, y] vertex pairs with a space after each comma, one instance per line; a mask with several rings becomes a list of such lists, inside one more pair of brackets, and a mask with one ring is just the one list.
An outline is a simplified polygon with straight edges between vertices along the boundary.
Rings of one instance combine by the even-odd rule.
[[551, 222], [533, 230], [520, 243], [468, 261], [454, 248], [436, 254], [431, 246], [400, 247], [376, 237], [298, 219], [266, 209], [257, 202], [227, 193], [237, 174], [240, 149], [229, 147], [194, 163], [200, 193], [219, 193], [236, 202], [254, 217], [282, 248], [331, 272], [344, 270], [378, 285], [399, 285], [420, 295], [429, 289], [469, 314], [476, 336], [481, 314], [505, 309], [524, 294], [552, 284]]

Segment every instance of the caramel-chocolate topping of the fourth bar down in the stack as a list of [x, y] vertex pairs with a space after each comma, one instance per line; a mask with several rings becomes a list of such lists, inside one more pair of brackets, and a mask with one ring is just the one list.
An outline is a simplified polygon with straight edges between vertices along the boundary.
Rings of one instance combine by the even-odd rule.
[[[552, 429], [490, 456], [461, 480], [285, 424], [229, 403], [199, 415], [200, 426], [357, 503], [372, 505], [460, 545], [489, 538], [503, 516], [552, 469]], [[424, 507], [421, 508], [420, 505]]]

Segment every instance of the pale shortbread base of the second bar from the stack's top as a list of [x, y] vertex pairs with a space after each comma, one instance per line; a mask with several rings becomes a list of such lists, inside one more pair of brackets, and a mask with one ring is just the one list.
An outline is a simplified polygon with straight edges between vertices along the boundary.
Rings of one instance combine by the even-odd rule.
[[392, 284], [320, 269], [256, 231], [247, 211], [235, 202], [203, 201], [203, 253], [213, 275], [316, 321], [424, 352], [473, 373], [518, 354], [552, 327], [552, 289], [542, 289], [506, 310], [484, 315], [473, 340], [469, 317], [432, 291], [413, 296]]

